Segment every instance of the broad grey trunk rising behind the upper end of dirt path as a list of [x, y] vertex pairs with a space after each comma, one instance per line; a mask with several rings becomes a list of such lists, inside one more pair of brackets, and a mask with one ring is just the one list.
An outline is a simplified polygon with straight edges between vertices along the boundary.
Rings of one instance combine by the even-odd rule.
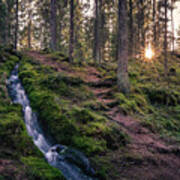
[[57, 23], [56, 23], [56, 0], [51, 0], [51, 49], [56, 51], [57, 49]]

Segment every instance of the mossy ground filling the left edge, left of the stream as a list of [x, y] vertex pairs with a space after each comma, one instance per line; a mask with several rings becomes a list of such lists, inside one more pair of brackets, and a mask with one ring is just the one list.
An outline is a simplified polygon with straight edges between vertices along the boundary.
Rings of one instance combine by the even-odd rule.
[[9, 51], [0, 50], [0, 162], [8, 162], [0, 170], [0, 179], [64, 179], [60, 171], [45, 162], [26, 132], [21, 106], [12, 104], [9, 98], [6, 81], [20, 61], [19, 53], [13, 51], [11, 55]]

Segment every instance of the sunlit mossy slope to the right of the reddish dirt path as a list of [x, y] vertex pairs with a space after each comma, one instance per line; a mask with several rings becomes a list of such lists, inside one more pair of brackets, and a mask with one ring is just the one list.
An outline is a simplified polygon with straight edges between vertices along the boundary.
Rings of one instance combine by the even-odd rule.
[[[168, 77], [164, 75], [163, 57], [147, 62], [132, 59], [129, 62], [131, 92], [129, 95], [114, 92], [114, 102], [109, 107], [118, 106], [119, 111], [141, 119], [142, 124], [162, 136], [180, 140], [180, 61], [176, 56], [168, 56]], [[106, 66], [105, 79], [116, 82], [116, 66]]]

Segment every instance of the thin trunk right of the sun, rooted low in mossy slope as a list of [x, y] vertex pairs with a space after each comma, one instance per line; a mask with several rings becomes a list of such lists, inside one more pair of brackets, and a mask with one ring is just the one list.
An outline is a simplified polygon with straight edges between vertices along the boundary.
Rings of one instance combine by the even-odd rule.
[[165, 9], [165, 24], [164, 24], [164, 73], [165, 77], [167, 78], [168, 74], [168, 59], [167, 59], [167, 6], [168, 6], [168, 0], [164, 0], [164, 9]]

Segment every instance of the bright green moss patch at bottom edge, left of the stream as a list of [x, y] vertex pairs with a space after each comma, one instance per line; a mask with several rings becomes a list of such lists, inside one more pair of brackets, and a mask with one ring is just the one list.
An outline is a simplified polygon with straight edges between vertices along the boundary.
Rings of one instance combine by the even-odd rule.
[[58, 169], [48, 165], [45, 160], [37, 157], [22, 157], [21, 161], [26, 166], [26, 174], [29, 179], [39, 180], [65, 180]]

